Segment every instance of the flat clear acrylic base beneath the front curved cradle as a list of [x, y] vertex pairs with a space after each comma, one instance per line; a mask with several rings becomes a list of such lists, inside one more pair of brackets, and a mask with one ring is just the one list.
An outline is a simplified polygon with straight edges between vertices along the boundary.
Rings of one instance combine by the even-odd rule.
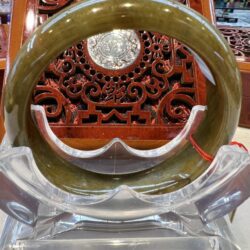
[[[0, 241], [1, 250], [240, 250], [234, 243], [229, 223], [218, 219], [183, 230], [164, 216], [140, 221], [104, 222], [81, 217], [71, 229], [61, 220], [60, 228], [42, 223], [29, 227], [8, 217]], [[46, 236], [47, 235], [47, 236]]]

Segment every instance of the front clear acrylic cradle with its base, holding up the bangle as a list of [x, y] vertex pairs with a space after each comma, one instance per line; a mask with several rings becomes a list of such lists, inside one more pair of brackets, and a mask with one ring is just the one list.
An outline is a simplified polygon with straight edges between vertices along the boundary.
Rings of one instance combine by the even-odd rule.
[[123, 185], [76, 195], [50, 183], [29, 148], [5, 139], [0, 208], [9, 217], [0, 249], [239, 249], [224, 216], [249, 197], [249, 177], [250, 155], [223, 146], [201, 176], [175, 192], [148, 195]]

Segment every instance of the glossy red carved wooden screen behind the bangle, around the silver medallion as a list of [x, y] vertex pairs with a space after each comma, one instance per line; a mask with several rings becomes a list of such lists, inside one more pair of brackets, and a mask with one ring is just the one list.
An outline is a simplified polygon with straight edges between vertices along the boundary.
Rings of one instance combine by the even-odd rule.
[[[30, 0], [27, 15], [35, 13], [37, 26], [73, 2]], [[24, 40], [30, 32], [26, 25]], [[128, 67], [112, 70], [96, 64], [85, 40], [64, 51], [43, 73], [34, 103], [45, 107], [59, 138], [164, 143], [181, 131], [194, 105], [205, 104], [205, 78], [188, 49], [165, 35], [135, 33], [140, 52]]]

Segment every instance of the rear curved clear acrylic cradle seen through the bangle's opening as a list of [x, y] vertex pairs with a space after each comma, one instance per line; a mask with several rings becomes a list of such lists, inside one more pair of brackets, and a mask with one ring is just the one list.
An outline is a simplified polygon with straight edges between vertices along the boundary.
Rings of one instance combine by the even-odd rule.
[[31, 105], [31, 111], [39, 131], [51, 148], [62, 158], [74, 162], [79, 168], [100, 173], [121, 175], [150, 169], [177, 154], [189, 141], [203, 121], [207, 107], [196, 105], [182, 131], [165, 145], [151, 149], [138, 150], [128, 146], [119, 138], [96, 150], [77, 150], [64, 144], [51, 130], [42, 106]]

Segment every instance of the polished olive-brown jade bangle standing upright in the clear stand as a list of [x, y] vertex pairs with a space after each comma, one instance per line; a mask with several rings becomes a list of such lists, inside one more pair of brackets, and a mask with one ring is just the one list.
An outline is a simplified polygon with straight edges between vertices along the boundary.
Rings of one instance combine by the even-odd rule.
[[189, 144], [147, 172], [125, 176], [94, 174], [63, 160], [51, 150], [34, 124], [32, 93], [47, 65], [72, 44], [113, 29], [155, 31], [190, 47], [207, 64], [216, 85], [207, 85], [207, 115], [195, 133], [197, 143], [215, 155], [238, 124], [241, 79], [233, 53], [219, 31], [197, 12], [170, 0], [82, 1], [40, 26], [18, 54], [7, 79], [4, 111], [13, 146], [32, 149], [42, 174], [59, 188], [78, 194], [101, 194], [119, 185], [151, 194], [176, 190], [208, 166]]

